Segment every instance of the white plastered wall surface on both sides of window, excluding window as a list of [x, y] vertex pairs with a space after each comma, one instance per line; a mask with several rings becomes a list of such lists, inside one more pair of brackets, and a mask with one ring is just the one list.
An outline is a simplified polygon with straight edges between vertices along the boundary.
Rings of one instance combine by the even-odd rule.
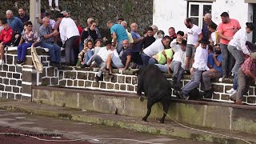
[[[216, 0], [213, 2], [212, 15], [216, 24], [222, 22], [220, 14], [228, 12], [230, 18], [235, 18], [242, 27], [250, 22], [252, 7], [244, 0]], [[185, 0], [154, 0], [153, 23], [168, 34], [168, 28], [173, 26], [176, 30], [186, 30], [184, 19], [187, 16], [187, 2]], [[168, 34], [169, 35], [169, 34]], [[251, 36], [250, 36], [251, 38]]]

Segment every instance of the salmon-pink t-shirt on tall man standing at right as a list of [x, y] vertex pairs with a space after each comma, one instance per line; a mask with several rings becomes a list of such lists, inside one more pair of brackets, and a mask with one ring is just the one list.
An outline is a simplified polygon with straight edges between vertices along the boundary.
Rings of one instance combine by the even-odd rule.
[[[222, 32], [222, 34], [226, 37], [233, 37], [234, 34], [238, 31], [238, 29], [241, 29], [241, 26], [240, 26], [238, 20], [236, 20], [236, 19], [230, 19], [229, 23], [222, 22], [218, 25], [218, 33]], [[229, 40], [221, 38], [220, 43], [228, 45], [229, 42], [230, 42]]]

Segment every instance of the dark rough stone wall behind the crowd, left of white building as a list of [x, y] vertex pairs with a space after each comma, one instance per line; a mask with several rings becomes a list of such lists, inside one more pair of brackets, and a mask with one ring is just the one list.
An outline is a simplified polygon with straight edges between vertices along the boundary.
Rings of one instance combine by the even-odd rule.
[[[29, 12], [29, 3], [30, 0], [19, 0], [18, 7], [22, 6]], [[41, 5], [49, 11], [47, 0], [41, 0]], [[125, 18], [128, 25], [131, 22], [138, 22], [139, 30], [144, 30], [153, 22], [153, 0], [60, 0], [59, 6], [61, 10], [70, 10], [71, 15], [80, 20], [81, 26], [86, 26], [86, 19], [89, 17], [98, 22], [99, 28], [106, 28], [108, 20], [116, 21], [118, 17]], [[1, 2], [1, 16], [5, 16], [6, 10], [13, 10], [15, 15], [18, 14], [18, 8], [14, 7], [13, 0]], [[52, 13], [55, 15], [57, 11]]]

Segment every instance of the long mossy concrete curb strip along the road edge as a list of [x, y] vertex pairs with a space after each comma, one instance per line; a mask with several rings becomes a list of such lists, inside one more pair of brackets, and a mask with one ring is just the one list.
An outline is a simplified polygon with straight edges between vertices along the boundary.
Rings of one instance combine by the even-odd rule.
[[187, 130], [184, 128], [180, 128], [178, 126], [149, 126], [147, 124], [142, 124], [139, 122], [126, 122], [125, 120], [115, 120], [111, 118], [97, 118], [95, 116], [88, 116], [85, 114], [70, 114], [68, 112], [57, 112], [54, 110], [34, 110], [32, 108], [28, 108], [26, 106], [8, 106], [4, 105], [4, 102], [2, 102], [3, 105], [0, 106], [1, 109], [4, 110], [11, 110], [15, 112], [23, 112], [26, 114], [38, 114], [38, 115], [44, 115], [44, 116], [50, 116], [54, 118], [63, 118], [63, 119], [69, 119], [73, 121], [79, 121], [79, 122], [88, 122], [88, 123], [94, 123], [99, 125], [105, 125], [105, 126], [117, 126], [120, 128], [125, 128], [129, 130], [136, 130], [139, 132], [145, 132], [150, 134], [163, 134], [163, 135], [169, 135], [172, 137], [178, 137], [178, 138], [187, 138], [195, 141], [206, 141], [206, 142], [214, 142], [214, 143], [232, 143], [232, 144], [240, 144], [240, 143], [246, 143], [238, 139], [233, 138], [225, 138], [218, 135], [212, 135], [212, 134], [206, 134], [206, 133], [200, 133], [194, 130]]

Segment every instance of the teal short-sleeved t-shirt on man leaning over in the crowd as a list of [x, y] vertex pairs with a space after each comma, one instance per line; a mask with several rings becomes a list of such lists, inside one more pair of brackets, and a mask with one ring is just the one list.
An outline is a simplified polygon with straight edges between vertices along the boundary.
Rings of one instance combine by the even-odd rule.
[[123, 27], [120, 24], [114, 24], [113, 26], [111, 26], [110, 32], [111, 32], [111, 34], [113, 34], [113, 33], [117, 34], [118, 42], [123, 41], [125, 39], [128, 40], [128, 35], [126, 33], [126, 29], [125, 29], [125, 27]]

